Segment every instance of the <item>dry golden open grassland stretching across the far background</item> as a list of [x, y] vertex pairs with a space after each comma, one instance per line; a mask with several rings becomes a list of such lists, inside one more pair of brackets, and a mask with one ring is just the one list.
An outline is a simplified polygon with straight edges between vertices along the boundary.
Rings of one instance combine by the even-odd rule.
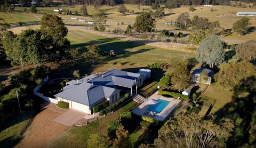
[[[19, 22], [38, 22], [42, 15], [47, 14], [56, 14], [59, 15], [63, 19], [66, 24], [69, 25], [85, 25], [88, 28], [93, 28], [93, 26], [88, 26], [87, 22], [79, 22], [78, 20], [71, 20], [71, 17], [77, 17], [77, 19], [85, 19], [86, 21], [92, 20], [92, 17], [84, 17], [81, 15], [65, 15], [58, 14], [57, 12], [53, 12], [53, 9], [61, 8], [64, 10], [70, 10], [72, 12], [80, 10], [82, 5], [72, 5], [72, 6], [58, 6], [58, 7], [38, 7], [38, 13], [22, 13], [23, 9], [21, 7], [17, 7], [17, 13], [0, 13], [1, 18], [4, 18], [6, 22], [9, 23], [19, 23]], [[132, 25], [135, 22], [135, 18], [141, 14], [142, 12], [149, 12], [150, 6], [141, 6], [140, 9], [137, 5], [126, 5], [127, 9], [130, 11], [126, 15], [123, 15], [118, 12], [119, 6], [102, 6], [100, 9], [107, 10], [108, 18], [107, 18], [107, 26], [106, 30], [114, 30], [115, 28], [126, 29], [127, 25]], [[204, 7], [204, 6], [195, 6], [196, 11], [190, 12], [188, 6], [182, 6], [177, 9], [164, 9], [165, 17], [156, 19], [156, 29], [175, 29], [173, 26], [167, 26], [163, 24], [164, 22], [175, 21], [175, 19], [181, 13], [188, 12], [190, 15], [190, 19], [193, 19], [195, 15], [199, 17], [205, 17], [209, 19], [210, 22], [219, 21], [222, 28], [231, 29], [234, 22], [243, 18], [237, 17], [237, 11], [255, 11], [255, 9], [243, 8], [243, 7], [231, 7], [231, 6], [212, 6], [212, 7]], [[213, 12], [211, 11], [213, 10]], [[29, 10], [29, 8], [27, 8]], [[92, 16], [97, 10], [94, 9], [93, 6], [87, 6], [88, 13]], [[131, 13], [133, 11], [133, 13]], [[155, 10], [152, 10], [153, 12]], [[256, 17], [249, 17], [251, 26], [256, 26]], [[121, 22], [124, 25], [121, 25]], [[117, 25], [117, 23], [120, 23]], [[243, 37], [239, 37], [237, 34], [232, 34], [227, 37], [222, 37], [227, 43], [241, 43], [246, 40], [255, 39], [256, 32], [251, 32], [249, 35], [245, 35]]]

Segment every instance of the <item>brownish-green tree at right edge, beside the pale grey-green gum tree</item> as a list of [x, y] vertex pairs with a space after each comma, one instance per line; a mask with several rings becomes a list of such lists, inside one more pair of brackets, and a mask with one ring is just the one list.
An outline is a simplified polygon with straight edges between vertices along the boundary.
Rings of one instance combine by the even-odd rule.
[[252, 61], [256, 59], [256, 41], [249, 40], [236, 46], [236, 60]]

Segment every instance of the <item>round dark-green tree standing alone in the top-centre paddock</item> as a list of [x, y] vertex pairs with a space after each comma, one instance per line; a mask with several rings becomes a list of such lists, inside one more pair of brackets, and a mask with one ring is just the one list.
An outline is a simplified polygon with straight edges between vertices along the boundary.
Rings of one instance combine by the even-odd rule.
[[144, 12], [136, 17], [133, 28], [136, 28], [137, 31], [150, 32], [155, 28], [155, 22], [150, 13]]

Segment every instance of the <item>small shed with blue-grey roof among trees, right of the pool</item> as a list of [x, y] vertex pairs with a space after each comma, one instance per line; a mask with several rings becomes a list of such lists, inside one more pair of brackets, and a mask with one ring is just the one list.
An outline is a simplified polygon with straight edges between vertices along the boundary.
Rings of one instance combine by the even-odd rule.
[[207, 69], [207, 68], [201, 68], [201, 69], [196, 69], [192, 72], [192, 80], [193, 82], [196, 82], [196, 83], [200, 83], [199, 82], [199, 77], [200, 77], [200, 74], [203, 70], [206, 70], [207, 73], [208, 73], [208, 80], [205, 81], [203, 84], [209, 84], [211, 85], [211, 82], [213, 80], [213, 75], [214, 75], [214, 71], [210, 70], [210, 69]]

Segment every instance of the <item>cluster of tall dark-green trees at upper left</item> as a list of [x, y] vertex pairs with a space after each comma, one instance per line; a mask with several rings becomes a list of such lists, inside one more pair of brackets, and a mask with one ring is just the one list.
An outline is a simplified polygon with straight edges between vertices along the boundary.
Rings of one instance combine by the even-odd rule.
[[12, 65], [33, 64], [45, 61], [58, 61], [65, 55], [63, 50], [70, 43], [68, 29], [62, 19], [56, 15], [43, 15], [40, 30], [24, 30], [19, 35], [12, 31], [2, 32], [2, 48], [6, 59]]

